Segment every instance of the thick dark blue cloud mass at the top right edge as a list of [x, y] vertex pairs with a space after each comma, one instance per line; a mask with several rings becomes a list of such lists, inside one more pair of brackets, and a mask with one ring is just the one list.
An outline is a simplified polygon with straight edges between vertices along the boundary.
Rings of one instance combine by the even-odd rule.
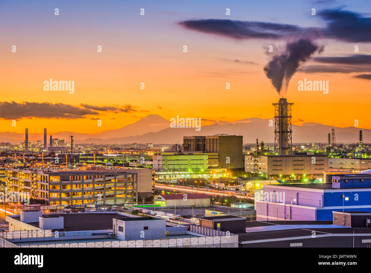
[[325, 37], [345, 42], [371, 42], [371, 17], [342, 9], [319, 11], [318, 15], [328, 22], [322, 30]]

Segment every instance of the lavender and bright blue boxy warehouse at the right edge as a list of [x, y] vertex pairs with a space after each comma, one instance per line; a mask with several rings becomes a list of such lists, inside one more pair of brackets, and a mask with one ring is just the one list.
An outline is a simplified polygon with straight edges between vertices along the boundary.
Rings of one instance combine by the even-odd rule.
[[257, 220], [332, 220], [335, 210], [371, 212], [371, 176], [333, 176], [326, 184], [263, 185], [262, 195], [256, 200]]

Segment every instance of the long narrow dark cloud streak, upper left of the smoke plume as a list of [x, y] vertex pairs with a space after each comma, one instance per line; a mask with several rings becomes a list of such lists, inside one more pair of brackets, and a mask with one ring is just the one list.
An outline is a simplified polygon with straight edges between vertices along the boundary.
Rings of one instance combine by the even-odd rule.
[[186, 29], [233, 39], [282, 39], [288, 34], [304, 31], [303, 28], [290, 24], [221, 19], [187, 20], [178, 24]]

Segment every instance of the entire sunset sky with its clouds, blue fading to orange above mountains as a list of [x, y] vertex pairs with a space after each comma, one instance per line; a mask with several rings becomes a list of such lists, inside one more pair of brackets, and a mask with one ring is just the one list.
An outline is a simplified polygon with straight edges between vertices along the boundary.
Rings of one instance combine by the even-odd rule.
[[[149, 114], [200, 117], [204, 125], [272, 118], [279, 95], [263, 68], [308, 28], [321, 30], [313, 42], [324, 50], [289, 82], [293, 124], [348, 127], [358, 119], [371, 129], [369, 0], [155, 2], [0, 1], [0, 132], [97, 133]], [[349, 29], [341, 25], [347, 18]], [[260, 22], [259, 35], [239, 21]], [[74, 93], [44, 91], [50, 78], [74, 80]], [[298, 91], [304, 78], [328, 80], [329, 93]]]

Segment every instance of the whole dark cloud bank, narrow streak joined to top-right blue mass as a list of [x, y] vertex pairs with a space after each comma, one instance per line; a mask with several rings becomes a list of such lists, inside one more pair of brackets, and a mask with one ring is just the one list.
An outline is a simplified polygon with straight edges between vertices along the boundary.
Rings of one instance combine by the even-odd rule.
[[371, 18], [342, 9], [318, 12], [327, 24], [323, 28], [299, 27], [292, 24], [238, 21], [226, 19], [187, 20], [178, 23], [186, 29], [215, 34], [232, 39], [285, 39], [287, 36], [308, 36], [342, 40], [345, 42], [371, 42]]

